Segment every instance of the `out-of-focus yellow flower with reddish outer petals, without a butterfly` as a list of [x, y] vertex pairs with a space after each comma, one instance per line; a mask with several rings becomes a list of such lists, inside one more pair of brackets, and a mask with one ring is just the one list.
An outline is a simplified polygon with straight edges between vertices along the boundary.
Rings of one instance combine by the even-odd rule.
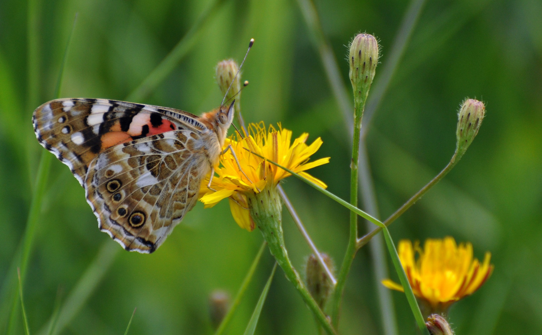
[[[415, 252], [420, 256], [416, 261]], [[427, 302], [431, 309], [446, 309], [464, 296], [473, 294], [491, 276], [491, 254], [486, 252], [483, 263], [474, 258], [470, 243], [459, 246], [453, 237], [427, 239], [424, 250], [416, 242], [399, 242], [399, 259], [414, 294]], [[389, 279], [384, 286], [403, 292], [403, 287]]]

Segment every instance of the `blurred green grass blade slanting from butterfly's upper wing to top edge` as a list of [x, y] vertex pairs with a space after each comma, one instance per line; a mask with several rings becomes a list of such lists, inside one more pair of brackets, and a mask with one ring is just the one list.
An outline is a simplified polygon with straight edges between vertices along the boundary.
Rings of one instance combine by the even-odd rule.
[[188, 54], [197, 41], [197, 37], [205, 23], [208, 22], [212, 14], [218, 9], [224, 0], [212, 0], [190, 30], [179, 40], [177, 45], [165, 56], [165, 58], [155, 67], [149, 75], [137, 86], [128, 96], [127, 101], [139, 101], [147, 97], [179, 64], [179, 61]]

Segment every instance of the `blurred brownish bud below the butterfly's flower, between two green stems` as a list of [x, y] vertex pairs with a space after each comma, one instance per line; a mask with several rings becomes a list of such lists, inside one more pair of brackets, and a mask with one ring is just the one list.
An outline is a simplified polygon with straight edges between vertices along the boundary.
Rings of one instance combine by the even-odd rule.
[[[323, 253], [320, 256], [322, 256], [327, 268], [333, 273], [333, 261], [330, 256]], [[308, 291], [320, 308], [323, 308], [333, 290], [333, 283], [314, 254], [307, 258], [306, 279]]]

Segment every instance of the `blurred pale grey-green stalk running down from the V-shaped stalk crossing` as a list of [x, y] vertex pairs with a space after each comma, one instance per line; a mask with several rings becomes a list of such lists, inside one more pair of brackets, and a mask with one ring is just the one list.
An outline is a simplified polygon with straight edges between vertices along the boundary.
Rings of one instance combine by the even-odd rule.
[[[359, 146], [359, 178], [359, 184], [362, 185], [361, 193], [363, 208], [365, 208], [369, 214], [379, 219], [375, 186], [372, 182], [371, 167], [369, 165], [369, 158], [367, 157], [367, 149], [363, 138], [361, 139]], [[365, 226], [367, 231], [371, 231], [375, 227], [374, 224], [367, 220], [365, 220]], [[374, 270], [373, 277], [375, 278], [380, 307], [380, 318], [382, 318], [384, 334], [395, 335], [398, 334], [399, 331], [397, 329], [397, 318], [391, 290], [380, 284], [383, 279], [389, 278], [388, 262], [386, 262], [382, 236], [373, 238], [369, 243], [369, 246], [371, 248], [372, 267]]]

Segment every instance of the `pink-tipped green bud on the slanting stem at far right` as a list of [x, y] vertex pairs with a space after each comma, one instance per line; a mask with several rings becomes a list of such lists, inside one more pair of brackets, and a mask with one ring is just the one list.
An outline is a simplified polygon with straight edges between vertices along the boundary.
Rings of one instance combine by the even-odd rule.
[[456, 155], [461, 157], [474, 137], [478, 134], [483, 117], [486, 113], [486, 106], [475, 99], [466, 99], [461, 105], [457, 121], [457, 149]]

